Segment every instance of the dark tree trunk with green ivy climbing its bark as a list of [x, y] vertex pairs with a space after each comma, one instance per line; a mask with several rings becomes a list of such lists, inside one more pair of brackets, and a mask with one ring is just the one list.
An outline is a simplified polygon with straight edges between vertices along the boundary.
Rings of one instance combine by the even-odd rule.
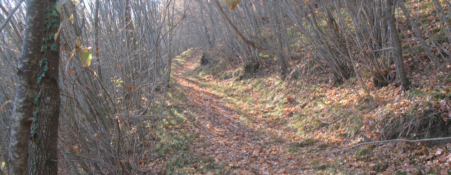
[[[46, 5], [44, 38], [57, 32], [60, 16], [51, 7], [56, 0]], [[48, 27], [50, 26], [50, 27]], [[58, 174], [58, 122], [60, 114], [59, 60], [60, 44], [51, 37], [44, 39], [47, 48], [43, 50], [38, 80], [38, 104], [32, 124], [30, 140], [29, 174]]]

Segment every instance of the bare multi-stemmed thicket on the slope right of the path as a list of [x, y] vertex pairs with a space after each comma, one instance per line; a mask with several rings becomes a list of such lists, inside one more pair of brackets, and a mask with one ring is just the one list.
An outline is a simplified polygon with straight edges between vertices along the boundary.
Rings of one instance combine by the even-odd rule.
[[[420, 55], [414, 59], [432, 71], [441, 70], [449, 59], [448, 0], [430, 2], [436, 10], [430, 15], [439, 26], [418, 13], [427, 6], [403, 0], [246, 0], [233, 10], [222, 8], [224, 13], [214, 4], [199, 5], [198, 31], [208, 41], [203, 45], [217, 46], [245, 70], [276, 58], [282, 77], [296, 71], [311, 75], [319, 68], [334, 74], [335, 82], [355, 75], [363, 81], [360, 73], [367, 72], [376, 87], [396, 81], [407, 88], [406, 53]], [[401, 26], [401, 21], [408, 25]]]

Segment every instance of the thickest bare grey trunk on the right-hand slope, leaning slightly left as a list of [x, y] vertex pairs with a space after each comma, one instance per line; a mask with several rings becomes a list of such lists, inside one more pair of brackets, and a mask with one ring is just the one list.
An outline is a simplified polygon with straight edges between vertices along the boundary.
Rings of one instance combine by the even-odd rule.
[[396, 64], [396, 75], [399, 82], [404, 85], [403, 89], [406, 90], [409, 88], [409, 80], [405, 76], [404, 71], [404, 62], [402, 58], [402, 49], [401, 49], [401, 41], [399, 40], [398, 31], [396, 30], [395, 18], [391, 10], [391, 5], [393, 4], [392, 0], [385, 1], [385, 12], [388, 17], [388, 27], [390, 28], [390, 35], [392, 38], [392, 44], [395, 47], [394, 51], [394, 61]]

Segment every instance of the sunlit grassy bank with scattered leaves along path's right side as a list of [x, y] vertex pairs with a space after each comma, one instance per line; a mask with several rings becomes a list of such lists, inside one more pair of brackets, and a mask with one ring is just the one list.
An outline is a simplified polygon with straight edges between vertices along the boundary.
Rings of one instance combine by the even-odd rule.
[[[222, 73], [218, 70], [219, 67]], [[256, 129], [256, 132], [272, 134], [274, 142], [291, 140], [288, 151], [293, 155], [314, 154], [364, 141], [448, 136], [445, 133], [450, 123], [448, 109], [451, 94], [446, 86], [433, 85], [438, 82], [436, 79], [418, 77], [408, 91], [390, 84], [380, 89], [369, 87], [367, 92], [354, 78], [334, 86], [330, 83], [296, 79], [281, 81], [275, 74], [260, 72], [254, 78], [238, 80], [237, 71], [216, 61], [212, 65], [198, 66], [190, 76], [204, 82], [204, 86], [225, 99], [230, 108], [245, 118], [243, 122], [260, 120], [277, 127], [282, 134], [274, 129]], [[435, 76], [445, 77], [444, 74]], [[371, 82], [369, 78], [364, 81]], [[449, 78], [439, 81], [451, 82]], [[305, 85], [308, 83], [312, 85]], [[412, 152], [429, 152], [440, 146], [435, 146], [435, 149], [421, 146], [434, 144], [437, 142], [418, 143], [416, 146], [403, 143], [367, 145], [337, 153], [335, 158], [310, 159], [309, 165], [302, 169], [348, 174], [343, 172], [381, 173], [404, 168], [398, 171], [404, 173], [407, 171], [405, 163], [389, 165], [396, 157], [390, 157], [388, 152], [407, 148]], [[422, 164], [415, 166], [416, 169], [436, 172], [431, 171], [430, 163], [421, 162], [423, 155], [408, 156], [412, 162]], [[399, 156], [404, 157], [401, 154]], [[348, 166], [334, 165], [336, 161]]]

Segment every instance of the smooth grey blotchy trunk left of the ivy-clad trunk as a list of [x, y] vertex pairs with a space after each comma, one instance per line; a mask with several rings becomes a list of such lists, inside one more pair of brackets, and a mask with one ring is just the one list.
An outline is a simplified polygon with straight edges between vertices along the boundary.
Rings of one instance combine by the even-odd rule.
[[28, 144], [35, 108], [38, 60], [42, 48], [44, 5], [45, 0], [27, 1], [24, 42], [17, 63], [18, 83], [11, 124], [9, 174], [27, 174], [28, 171]]

